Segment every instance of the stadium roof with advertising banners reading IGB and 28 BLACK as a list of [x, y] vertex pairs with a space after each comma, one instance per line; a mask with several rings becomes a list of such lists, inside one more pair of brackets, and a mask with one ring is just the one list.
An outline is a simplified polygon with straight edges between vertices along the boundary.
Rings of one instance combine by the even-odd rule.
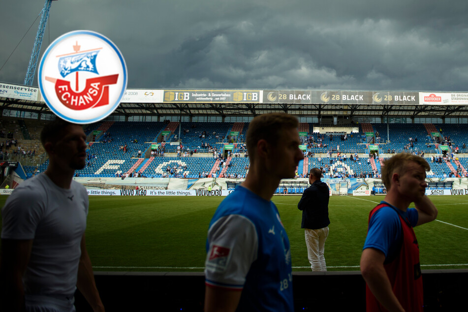
[[[38, 88], [0, 83], [0, 108], [51, 113]], [[468, 117], [466, 92], [127, 89], [114, 115]]]

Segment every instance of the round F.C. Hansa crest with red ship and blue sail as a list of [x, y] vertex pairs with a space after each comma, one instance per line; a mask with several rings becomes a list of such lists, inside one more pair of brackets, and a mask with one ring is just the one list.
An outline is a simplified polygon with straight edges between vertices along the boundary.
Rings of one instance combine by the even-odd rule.
[[71, 31], [45, 51], [38, 82], [44, 101], [57, 116], [90, 124], [119, 106], [127, 69], [124, 57], [108, 38], [94, 31]]

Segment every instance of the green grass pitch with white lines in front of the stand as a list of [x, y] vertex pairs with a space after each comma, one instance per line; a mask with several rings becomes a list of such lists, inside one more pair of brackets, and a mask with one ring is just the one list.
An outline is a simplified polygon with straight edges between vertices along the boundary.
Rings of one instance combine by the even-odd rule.
[[[7, 196], [0, 196], [3, 206]], [[224, 197], [90, 196], [86, 242], [95, 271], [203, 271], [208, 224]], [[329, 271], [359, 270], [370, 210], [383, 196], [332, 196]], [[274, 196], [295, 271], [308, 271], [300, 196]], [[468, 196], [431, 196], [438, 221], [415, 228], [423, 269], [468, 268]]]

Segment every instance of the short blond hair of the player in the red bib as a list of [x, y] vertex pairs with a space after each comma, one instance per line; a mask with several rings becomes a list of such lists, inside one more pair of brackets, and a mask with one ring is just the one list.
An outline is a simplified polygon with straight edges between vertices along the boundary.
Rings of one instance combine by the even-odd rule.
[[412, 155], [409, 153], [396, 154], [395, 156], [383, 161], [382, 182], [387, 190], [390, 189], [392, 175], [394, 173], [403, 174], [405, 172], [408, 161], [414, 161], [423, 167], [426, 171], [431, 170], [429, 163], [421, 156]]

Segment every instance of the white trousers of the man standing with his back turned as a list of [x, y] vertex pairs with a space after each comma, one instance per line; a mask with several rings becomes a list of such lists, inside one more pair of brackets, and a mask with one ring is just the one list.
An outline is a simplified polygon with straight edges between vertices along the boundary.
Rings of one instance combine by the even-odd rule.
[[311, 263], [312, 271], [327, 271], [323, 252], [325, 251], [325, 241], [328, 236], [328, 226], [316, 230], [305, 229], [305, 235], [307, 257]]

